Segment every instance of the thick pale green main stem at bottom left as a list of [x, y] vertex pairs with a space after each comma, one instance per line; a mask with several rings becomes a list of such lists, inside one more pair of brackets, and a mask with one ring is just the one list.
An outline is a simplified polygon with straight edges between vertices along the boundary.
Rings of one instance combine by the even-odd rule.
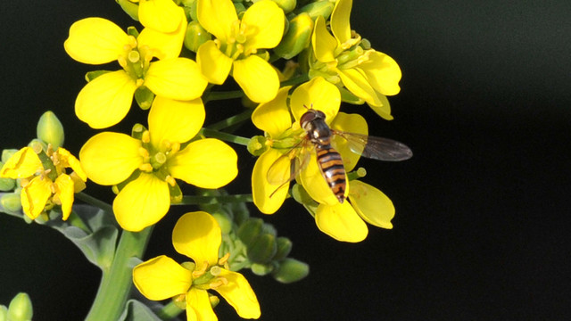
[[118, 320], [133, 285], [130, 261], [141, 258], [153, 227], [141, 232], [123, 231], [110, 268], [103, 269], [101, 284], [87, 321]]

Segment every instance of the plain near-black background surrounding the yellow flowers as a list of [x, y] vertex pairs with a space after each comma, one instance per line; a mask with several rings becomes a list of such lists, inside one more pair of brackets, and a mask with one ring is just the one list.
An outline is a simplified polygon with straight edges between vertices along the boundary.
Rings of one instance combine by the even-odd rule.
[[[73, 103], [84, 73], [96, 68], [72, 61], [63, 40], [87, 16], [132, 23], [111, 0], [6, 1], [0, 10], [1, 147], [27, 144], [50, 109], [77, 154], [95, 130], [75, 118]], [[355, 1], [352, 29], [403, 74], [401, 93], [390, 98], [393, 121], [366, 106], [343, 107], [364, 114], [371, 134], [415, 152], [406, 162], [361, 163], [364, 180], [393, 200], [394, 228], [371, 226], [365, 242], [338, 243], [294, 202], [265, 217], [291, 237], [292, 256], [309, 262], [311, 273], [289, 285], [247, 274], [261, 318], [566, 319], [569, 17], [565, 0]], [[254, 159], [244, 156], [234, 191], [249, 185]], [[172, 251], [177, 216], [157, 226], [149, 257]], [[0, 303], [23, 291], [36, 320], [85, 317], [99, 274], [79, 250], [54, 230], [5, 215], [0, 235]], [[226, 303], [217, 313], [237, 318]]]

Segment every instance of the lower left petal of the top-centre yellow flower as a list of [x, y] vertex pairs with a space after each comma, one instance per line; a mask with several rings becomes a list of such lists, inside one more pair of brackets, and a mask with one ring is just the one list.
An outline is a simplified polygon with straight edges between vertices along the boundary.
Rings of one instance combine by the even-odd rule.
[[212, 84], [222, 85], [232, 69], [232, 58], [222, 53], [213, 40], [198, 47], [196, 63], [205, 78]]

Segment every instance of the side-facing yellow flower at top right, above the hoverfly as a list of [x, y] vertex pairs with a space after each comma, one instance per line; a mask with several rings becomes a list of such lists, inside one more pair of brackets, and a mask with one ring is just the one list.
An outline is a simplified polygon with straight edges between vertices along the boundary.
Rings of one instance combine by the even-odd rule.
[[393, 119], [386, 95], [396, 95], [401, 88], [401, 69], [385, 53], [360, 42], [349, 24], [352, 0], [338, 0], [331, 14], [331, 31], [323, 17], [315, 21], [311, 37], [313, 57], [310, 77], [322, 76], [337, 86], [344, 86], [384, 119]]

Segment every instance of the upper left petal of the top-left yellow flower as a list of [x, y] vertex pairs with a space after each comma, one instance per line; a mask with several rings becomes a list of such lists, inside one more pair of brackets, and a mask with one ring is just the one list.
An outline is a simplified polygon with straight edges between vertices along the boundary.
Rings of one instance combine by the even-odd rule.
[[63, 47], [78, 62], [102, 64], [117, 60], [128, 44], [127, 33], [112, 21], [86, 18], [71, 25]]

